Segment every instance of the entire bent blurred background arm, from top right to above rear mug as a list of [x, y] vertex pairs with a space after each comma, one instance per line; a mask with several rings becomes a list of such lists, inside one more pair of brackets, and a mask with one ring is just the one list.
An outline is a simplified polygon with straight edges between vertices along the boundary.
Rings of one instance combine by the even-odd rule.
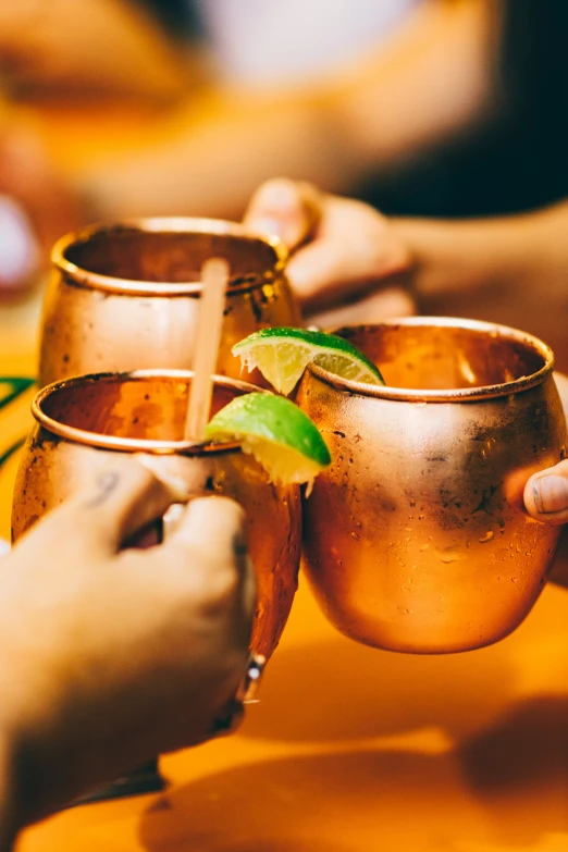
[[423, 0], [379, 51], [285, 94], [227, 88], [164, 127], [146, 152], [81, 178], [99, 218], [239, 218], [274, 173], [348, 190], [491, 113], [498, 0]]

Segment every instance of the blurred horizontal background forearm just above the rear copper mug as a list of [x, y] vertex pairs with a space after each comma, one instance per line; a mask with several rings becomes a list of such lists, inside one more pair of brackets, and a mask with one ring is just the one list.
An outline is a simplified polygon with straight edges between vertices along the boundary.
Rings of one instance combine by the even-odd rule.
[[339, 158], [337, 131], [311, 97], [218, 92], [175, 115], [146, 146], [84, 170], [78, 189], [98, 219], [239, 219], [257, 186], [277, 173], [344, 188], [353, 175]]

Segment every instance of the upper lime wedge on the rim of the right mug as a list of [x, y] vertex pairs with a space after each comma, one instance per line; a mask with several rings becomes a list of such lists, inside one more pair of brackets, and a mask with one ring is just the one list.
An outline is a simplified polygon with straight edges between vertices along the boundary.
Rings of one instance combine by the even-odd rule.
[[262, 329], [232, 351], [248, 370], [258, 367], [280, 394], [289, 394], [311, 361], [342, 379], [384, 384], [379, 369], [356, 346], [320, 331]]

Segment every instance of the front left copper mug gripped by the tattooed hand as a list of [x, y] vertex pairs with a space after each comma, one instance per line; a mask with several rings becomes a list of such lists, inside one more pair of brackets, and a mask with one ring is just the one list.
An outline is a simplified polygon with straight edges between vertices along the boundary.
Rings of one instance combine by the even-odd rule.
[[[12, 538], [91, 482], [97, 471], [116, 468], [132, 453], [152, 453], [164, 472], [184, 479], [196, 495], [225, 494], [245, 508], [258, 585], [251, 647], [270, 656], [297, 588], [299, 490], [270, 483], [238, 447], [206, 452], [183, 442], [189, 382], [183, 372], [148, 371], [70, 380], [40, 392], [34, 404], [39, 422], [23, 450], [15, 483]], [[212, 411], [252, 390], [245, 382], [219, 379]]]

